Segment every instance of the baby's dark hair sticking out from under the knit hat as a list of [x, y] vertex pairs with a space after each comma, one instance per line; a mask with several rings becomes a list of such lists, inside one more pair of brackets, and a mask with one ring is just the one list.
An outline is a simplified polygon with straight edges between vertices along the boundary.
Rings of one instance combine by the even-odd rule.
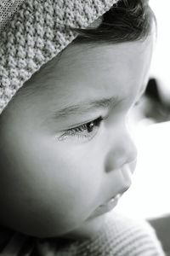
[[73, 44], [121, 43], [146, 38], [151, 21], [156, 20], [148, 0], [120, 0], [102, 16], [96, 28], [74, 29]]

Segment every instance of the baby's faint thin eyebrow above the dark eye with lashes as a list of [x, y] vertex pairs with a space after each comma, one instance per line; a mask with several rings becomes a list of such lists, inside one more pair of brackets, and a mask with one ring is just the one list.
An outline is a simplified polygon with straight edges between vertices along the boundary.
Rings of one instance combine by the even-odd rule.
[[120, 102], [118, 97], [104, 98], [91, 102], [81, 102], [58, 110], [54, 113], [53, 118], [60, 119], [75, 114], [85, 114], [96, 108], [113, 108], [118, 102]]

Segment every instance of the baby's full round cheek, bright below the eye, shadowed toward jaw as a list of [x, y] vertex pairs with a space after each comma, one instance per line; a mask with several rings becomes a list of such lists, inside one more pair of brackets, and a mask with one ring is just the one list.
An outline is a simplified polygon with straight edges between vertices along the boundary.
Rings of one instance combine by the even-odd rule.
[[35, 232], [57, 236], [75, 229], [93, 211], [99, 179], [83, 150], [37, 134], [8, 148], [13, 164], [6, 168], [3, 182], [10, 203], [2, 203], [4, 215], [5, 209], [14, 212], [12, 226], [34, 236]]

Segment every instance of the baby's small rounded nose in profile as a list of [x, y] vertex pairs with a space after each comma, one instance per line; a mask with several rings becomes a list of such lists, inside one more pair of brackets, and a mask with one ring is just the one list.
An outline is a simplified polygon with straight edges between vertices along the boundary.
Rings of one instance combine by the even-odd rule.
[[105, 157], [105, 172], [114, 171], [127, 163], [132, 163], [131, 172], [134, 171], [137, 149], [128, 131], [116, 132], [114, 138], [108, 137], [109, 150]]

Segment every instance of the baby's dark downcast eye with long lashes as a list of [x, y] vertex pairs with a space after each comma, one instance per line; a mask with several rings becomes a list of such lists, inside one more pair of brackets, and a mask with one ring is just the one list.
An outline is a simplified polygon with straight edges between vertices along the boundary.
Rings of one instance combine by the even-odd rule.
[[86, 124], [79, 125], [77, 127], [66, 130], [61, 136], [59, 136], [59, 141], [65, 141], [70, 137], [77, 137], [82, 139], [91, 140], [98, 132], [99, 126], [104, 118], [99, 117]]

